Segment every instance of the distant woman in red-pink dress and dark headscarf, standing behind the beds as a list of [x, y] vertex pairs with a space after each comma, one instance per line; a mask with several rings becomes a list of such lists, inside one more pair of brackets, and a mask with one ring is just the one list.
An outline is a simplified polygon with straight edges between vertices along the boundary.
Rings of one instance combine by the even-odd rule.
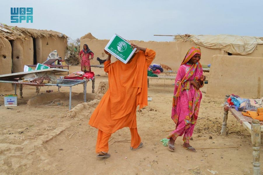
[[87, 44], [84, 44], [83, 50], [80, 51], [79, 56], [81, 58], [81, 71], [84, 73], [91, 72], [90, 60], [93, 60], [94, 53], [89, 49]]

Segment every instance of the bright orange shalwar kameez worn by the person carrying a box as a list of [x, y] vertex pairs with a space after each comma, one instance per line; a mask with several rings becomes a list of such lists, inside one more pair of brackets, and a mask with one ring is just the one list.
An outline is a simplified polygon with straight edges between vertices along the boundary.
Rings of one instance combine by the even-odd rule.
[[90, 117], [89, 125], [99, 129], [96, 153], [108, 152], [108, 140], [112, 133], [123, 127], [131, 131], [131, 147], [138, 148], [141, 138], [137, 132], [136, 108], [148, 105], [147, 69], [156, 53], [146, 48], [139, 51], [132, 60], [104, 62], [108, 73], [109, 89], [102, 97]]

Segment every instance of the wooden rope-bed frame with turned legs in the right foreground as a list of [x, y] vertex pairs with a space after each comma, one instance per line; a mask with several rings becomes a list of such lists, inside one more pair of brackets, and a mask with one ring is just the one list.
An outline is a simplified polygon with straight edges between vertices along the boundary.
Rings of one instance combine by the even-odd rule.
[[[225, 102], [227, 102], [228, 98], [229, 95], [226, 95]], [[260, 175], [260, 132], [261, 130], [263, 131], [263, 122], [243, 116], [242, 113], [240, 111], [236, 111], [235, 108], [229, 108], [227, 110], [224, 108], [221, 135], [226, 135], [228, 111], [230, 111], [236, 120], [238, 120], [240, 124], [251, 134], [253, 146], [253, 175]]]

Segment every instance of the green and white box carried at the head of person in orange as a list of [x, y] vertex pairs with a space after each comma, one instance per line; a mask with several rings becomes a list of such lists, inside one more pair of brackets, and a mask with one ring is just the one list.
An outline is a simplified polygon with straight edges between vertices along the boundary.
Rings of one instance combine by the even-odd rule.
[[129, 62], [136, 48], [132, 50], [131, 43], [114, 34], [105, 47], [105, 50], [123, 63]]

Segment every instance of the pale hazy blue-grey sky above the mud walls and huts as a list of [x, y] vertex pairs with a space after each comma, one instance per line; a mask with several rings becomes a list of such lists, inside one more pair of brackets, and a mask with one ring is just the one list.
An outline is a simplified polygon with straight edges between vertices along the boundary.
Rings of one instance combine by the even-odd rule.
[[[1, 0], [0, 22], [55, 30], [72, 39], [119, 34], [128, 40], [172, 41], [154, 34], [263, 36], [262, 0]], [[33, 23], [10, 23], [11, 7], [33, 7]]]

